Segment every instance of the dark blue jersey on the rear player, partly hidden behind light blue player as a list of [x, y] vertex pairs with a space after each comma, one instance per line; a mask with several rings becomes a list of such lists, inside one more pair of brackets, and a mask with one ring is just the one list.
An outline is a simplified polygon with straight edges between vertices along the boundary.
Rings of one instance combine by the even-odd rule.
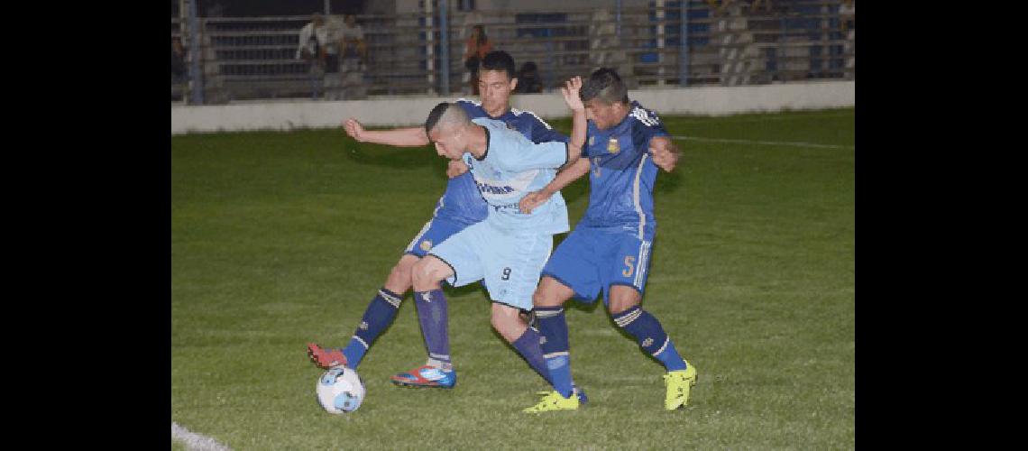
[[[485, 117], [500, 120], [507, 123], [509, 128], [515, 129], [531, 142], [547, 143], [551, 141], [567, 142], [567, 137], [550, 127], [548, 123], [540, 119], [529, 111], [518, 111], [510, 109], [499, 117], [491, 117], [482, 105], [478, 102], [460, 99], [456, 104], [464, 108], [468, 116], [472, 119]], [[439, 201], [436, 202], [434, 216], [446, 218], [461, 224], [470, 225], [485, 219], [488, 216], [485, 199], [478, 191], [478, 185], [471, 172], [464, 173], [449, 180], [446, 185], [446, 192], [443, 193]]]

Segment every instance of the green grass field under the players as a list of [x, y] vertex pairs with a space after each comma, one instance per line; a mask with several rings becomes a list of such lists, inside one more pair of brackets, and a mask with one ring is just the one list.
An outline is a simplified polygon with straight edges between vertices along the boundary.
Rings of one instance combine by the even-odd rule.
[[[333, 129], [172, 139], [172, 420], [236, 450], [853, 448], [853, 110], [663, 119], [693, 139], [658, 176], [642, 305], [699, 371], [685, 410], [663, 410], [663, 367], [602, 307], [573, 302], [590, 404], [520, 413], [545, 382], [476, 286], [447, 292], [455, 389], [389, 382], [425, 361], [408, 295], [361, 364], [364, 405], [322, 411], [305, 343], [348, 341], [446, 183], [429, 148]], [[573, 226], [587, 183], [564, 190]]]

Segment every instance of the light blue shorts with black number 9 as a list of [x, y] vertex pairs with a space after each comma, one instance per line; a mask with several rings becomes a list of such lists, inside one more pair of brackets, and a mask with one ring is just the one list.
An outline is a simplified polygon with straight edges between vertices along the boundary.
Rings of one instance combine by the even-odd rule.
[[553, 251], [553, 235], [510, 232], [482, 221], [440, 242], [429, 255], [446, 262], [453, 287], [483, 280], [492, 302], [531, 309], [539, 274]]

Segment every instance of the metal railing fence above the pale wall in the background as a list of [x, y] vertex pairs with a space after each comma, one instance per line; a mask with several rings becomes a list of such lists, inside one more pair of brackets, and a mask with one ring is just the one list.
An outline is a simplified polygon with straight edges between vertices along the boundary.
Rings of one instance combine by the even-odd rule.
[[[510, 52], [518, 67], [535, 62], [546, 90], [598, 67], [616, 68], [632, 88], [854, 77], [854, 33], [843, 27], [839, 0], [797, 1], [773, 12], [741, 6], [718, 12], [706, 2], [690, 1], [686, 14], [681, 2], [662, 3], [620, 11], [450, 10], [447, 62], [439, 58], [438, 15], [358, 15], [368, 46], [364, 88], [367, 96], [468, 93], [463, 54], [475, 24], [484, 25], [493, 48]], [[173, 36], [188, 33], [182, 22], [172, 18]], [[173, 83], [173, 99], [177, 87], [188, 100], [193, 85], [203, 86], [204, 103], [310, 98], [308, 66], [295, 59], [299, 30], [307, 22], [307, 15], [199, 17], [200, 47], [190, 48], [186, 58], [198, 57], [203, 70]], [[449, 92], [442, 92], [443, 63]]]

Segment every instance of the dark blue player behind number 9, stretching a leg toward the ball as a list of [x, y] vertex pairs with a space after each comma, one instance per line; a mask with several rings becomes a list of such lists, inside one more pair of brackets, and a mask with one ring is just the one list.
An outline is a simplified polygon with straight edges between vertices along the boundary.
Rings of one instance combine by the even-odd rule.
[[[481, 64], [478, 81], [481, 102], [466, 99], [456, 101], [469, 117], [503, 121], [534, 143], [568, 141], [566, 136], [553, 129], [534, 113], [511, 108], [510, 96], [517, 86], [517, 78], [514, 78], [514, 59], [509, 53], [503, 50], [491, 51], [482, 59]], [[362, 143], [399, 147], [423, 147], [430, 144], [424, 126], [368, 130], [356, 119], [350, 118], [343, 122], [343, 127], [347, 135]], [[316, 365], [322, 368], [345, 365], [356, 369], [374, 340], [396, 318], [400, 303], [412, 287], [411, 268], [414, 264], [449, 236], [486, 218], [486, 202], [468, 172], [468, 166], [461, 161], [451, 161], [447, 176], [450, 180], [446, 191], [436, 202], [432, 219], [414, 236], [400, 261], [390, 271], [386, 284], [361, 317], [350, 343], [341, 349], [307, 344], [307, 353]], [[539, 344], [539, 332], [527, 328], [524, 318], [518, 313], [513, 308], [493, 308], [492, 325], [533, 369], [549, 380]], [[445, 352], [430, 352], [426, 365], [394, 375], [391, 380], [404, 386], [451, 388], [456, 381], [455, 373], [440, 371], [452, 369], [448, 335], [441, 341], [441, 346], [447, 349]], [[582, 399], [585, 400], [584, 396]]]

